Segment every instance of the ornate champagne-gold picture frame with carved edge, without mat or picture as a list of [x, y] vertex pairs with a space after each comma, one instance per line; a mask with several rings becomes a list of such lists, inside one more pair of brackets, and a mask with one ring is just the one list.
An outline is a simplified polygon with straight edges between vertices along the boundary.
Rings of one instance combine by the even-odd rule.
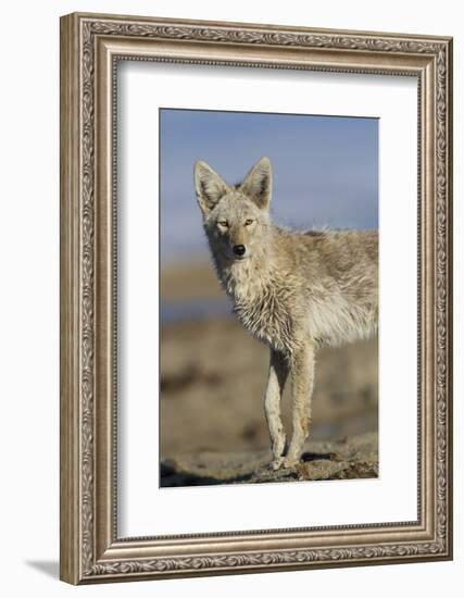
[[[452, 39], [73, 13], [61, 18], [61, 532], [71, 584], [452, 558]], [[117, 534], [117, 61], [417, 79], [417, 520]]]

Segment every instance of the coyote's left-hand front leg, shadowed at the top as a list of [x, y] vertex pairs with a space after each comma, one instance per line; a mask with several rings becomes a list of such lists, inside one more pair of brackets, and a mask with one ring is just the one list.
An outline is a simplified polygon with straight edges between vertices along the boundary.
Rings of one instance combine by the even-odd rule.
[[269, 428], [273, 450], [272, 466], [278, 469], [284, 460], [285, 431], [280, 416], [280, 399], [288, 376], [288, 364], [285, 356], [271, 349], [269, 377], [267, 379], [264, 410]]

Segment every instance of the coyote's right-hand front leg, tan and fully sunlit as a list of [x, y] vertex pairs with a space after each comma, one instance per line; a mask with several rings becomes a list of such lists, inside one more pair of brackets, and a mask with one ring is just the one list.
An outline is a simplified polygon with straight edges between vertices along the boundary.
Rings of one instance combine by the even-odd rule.
[[314, 384], [314, 345], [312, 342], [305, 344], [292, 356], [290, 367], [293, 435], [283, 462], [284, 468], [292, 468], [298, 463], [310, 432]]

